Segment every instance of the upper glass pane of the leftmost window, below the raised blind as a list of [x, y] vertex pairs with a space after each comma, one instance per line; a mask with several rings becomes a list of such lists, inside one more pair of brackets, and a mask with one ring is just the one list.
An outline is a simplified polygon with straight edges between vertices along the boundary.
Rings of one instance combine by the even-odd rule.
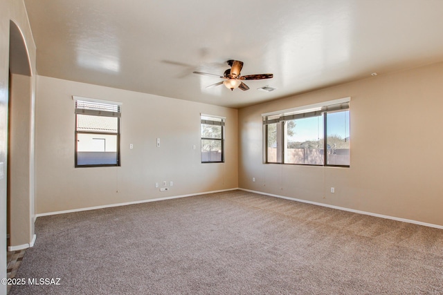
[[117, 133], [118, 117], [78, 114], [77, 131]]

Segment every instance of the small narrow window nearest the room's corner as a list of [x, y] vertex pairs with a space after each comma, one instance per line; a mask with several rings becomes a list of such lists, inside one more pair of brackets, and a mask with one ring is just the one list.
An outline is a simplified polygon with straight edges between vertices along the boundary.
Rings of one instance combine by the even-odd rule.
[[201, 162], [224, 162], [224, 117], [201, 115]]

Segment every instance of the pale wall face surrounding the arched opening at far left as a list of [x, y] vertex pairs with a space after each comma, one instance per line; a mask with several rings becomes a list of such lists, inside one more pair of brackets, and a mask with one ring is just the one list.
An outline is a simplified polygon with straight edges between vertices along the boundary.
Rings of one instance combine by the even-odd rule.
[[[8, 151], [8, 72], [9, 72], [9, 32], [10, 21], [14, 21], [21, 30], [26, 43], [28, 64], [35, 73], [35, 44], [30, 31], [28, 17], [23, 1], [0, 1], [0, 163], [3, 163], [3, 178], [0, 179], [0, 278], [6, 278], [6, 166]], [[31, 99], [34, 95], [34, 78], [30, 79]], [[33, 114], [31, 114], [33, 115]], [[31, 119], [32, 120], [32, 119]], [[32, 128], [30, 129], [32, 132]], [[31, 149], [33, 146], [31, 146]], [[30, 163], [30, 169], [33, 164]], [[33, 178], [31, 172], [30, 178]], [[30, 184], [32, 189], [33, 184]], [[33, 198], [33, 196], [32, 196]], [[33, 203], [33, 200], [29, 200]], [[32, 206], [32, 204], [30, 204]], [[24, 218], [30, 218], [30, 208], [24, 208]], [[20, 218], [17, 216], [17, 218]], [[27, 223], [28, 226], [29, 223]], [[29, 229], [33, 231], [33, 229]], [[27, 241], [30, 242], [30, 241]], [[0, 294], [6, 294], [6, 285], [0, 285]]]

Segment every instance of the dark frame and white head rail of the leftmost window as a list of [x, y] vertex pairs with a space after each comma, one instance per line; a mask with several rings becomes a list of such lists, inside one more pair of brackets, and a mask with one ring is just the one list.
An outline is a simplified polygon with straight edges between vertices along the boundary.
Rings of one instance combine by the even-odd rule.
[[[91, 99], [87, 97], [77, 97], [73, 96], [73, 100], [75, 100], [75, 131], [74, 131], [74, 166], [75, 168], [89, 168], [89, 167], [116, 167], [121, 166], [120, 161], [120, 117], [121, 117], [121, 103], [120, 102], [109, 102], [101, 99]], [[78, 108], [77, 102], [91, 102], [94, 104], [103, 104], [103, 105], [113, 105], [118, 109], [117, 112], [109, 112], [109, 111], [96, 111], [96, 110], [87, 110], [84, 108]], [[92, 131], [78, 131], [78, 116], [79, 115], [91, 115], [98, 117], [117, 117], [117, 132], [92, 132]], [[91, 134], [91, 135], [116, 135], [116, 164], [78, 164], [78, 135], [79, 134]]]

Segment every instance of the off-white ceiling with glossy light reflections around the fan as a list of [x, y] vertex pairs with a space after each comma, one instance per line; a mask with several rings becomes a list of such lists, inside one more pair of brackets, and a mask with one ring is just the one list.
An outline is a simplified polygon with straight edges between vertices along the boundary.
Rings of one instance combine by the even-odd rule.
[[[442, 0], [25, 0], [39, 75], [239, 108], [443, 61]], [[223, 85], [244, 61], [249, 91]], [[271, 93], [261, 86], [277, 88]], [[75, 94], [75, 93], [73, 93]]]

